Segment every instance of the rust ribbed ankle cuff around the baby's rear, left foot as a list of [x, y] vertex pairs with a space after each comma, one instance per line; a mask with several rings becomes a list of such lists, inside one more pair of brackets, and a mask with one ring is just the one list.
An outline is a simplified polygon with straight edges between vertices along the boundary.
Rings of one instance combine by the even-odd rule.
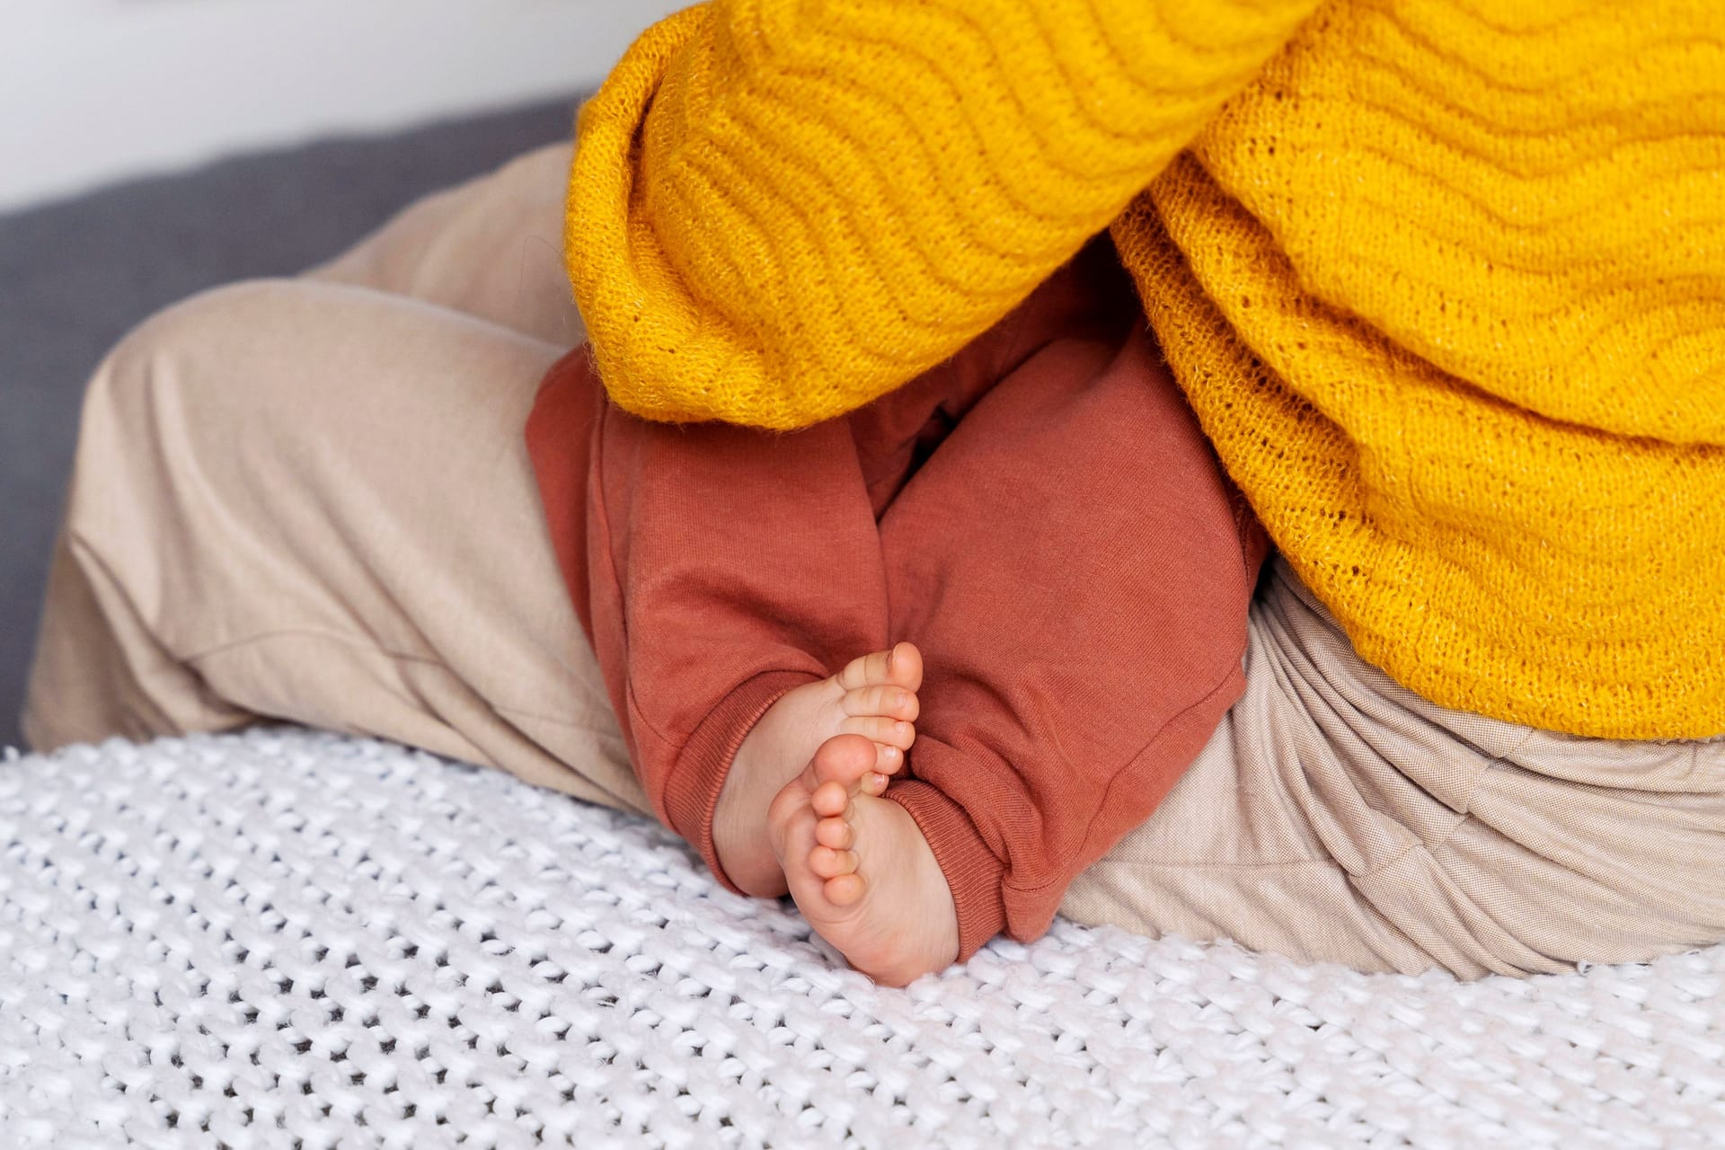
[[719, 791], [724, 790], [737, 748], [781, 695], [819, 679], [821, 676], [807, 671], [762, 671], [745, 679], [700, 721], [666, 779], [662, 803], [666, 824], [693, 843], [707, 869], [728, 891], [743, 893], [719, 866], [712, 845], [712, 812], [719, 805]]

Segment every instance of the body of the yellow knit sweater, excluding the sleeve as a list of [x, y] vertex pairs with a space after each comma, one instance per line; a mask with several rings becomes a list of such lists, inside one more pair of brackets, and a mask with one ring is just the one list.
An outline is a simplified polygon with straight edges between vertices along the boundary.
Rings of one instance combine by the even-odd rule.
[[1725, 28], [1327, 7], [1114, 226], [1206, 431], [1432, 702], [1725, 729]]

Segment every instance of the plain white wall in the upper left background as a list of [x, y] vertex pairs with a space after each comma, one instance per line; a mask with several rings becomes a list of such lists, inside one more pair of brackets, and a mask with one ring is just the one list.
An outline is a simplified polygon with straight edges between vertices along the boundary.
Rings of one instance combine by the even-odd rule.
[[0, 0], [0, 210], [597, 84], [688, 0]]

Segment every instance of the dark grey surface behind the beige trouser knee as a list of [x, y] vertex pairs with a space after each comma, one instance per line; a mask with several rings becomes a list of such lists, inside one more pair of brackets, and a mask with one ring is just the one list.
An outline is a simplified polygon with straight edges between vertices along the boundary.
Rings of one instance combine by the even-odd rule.
[[0, 216], [0, 747], [36, 636], [85, 379], [152, 312], [293, 274], [398, 207], [568, 138], [576, 98], [314, 143]]

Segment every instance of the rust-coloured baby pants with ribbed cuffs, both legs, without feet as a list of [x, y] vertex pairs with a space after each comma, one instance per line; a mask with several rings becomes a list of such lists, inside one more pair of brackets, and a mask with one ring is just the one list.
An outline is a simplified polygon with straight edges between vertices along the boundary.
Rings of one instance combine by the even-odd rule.
[[585, 348], [528, 447], [654, 810], [723, 879], [750, 726], [895, 641], [926, 676], [887, 797], [952, 888], [959, 952], [1047, 929], [1244, 690], [1264, 538], [1099, 240], [961, 355], [790, 434], [611, 405]]

